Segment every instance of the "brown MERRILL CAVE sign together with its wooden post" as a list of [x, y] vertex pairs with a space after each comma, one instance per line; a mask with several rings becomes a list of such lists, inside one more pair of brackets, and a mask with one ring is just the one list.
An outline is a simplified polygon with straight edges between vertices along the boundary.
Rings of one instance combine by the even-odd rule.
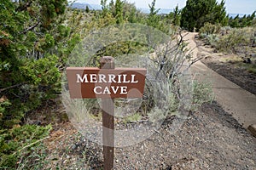
[[143, 98], [146, 69], [116, 68], [113, 57], [102, 57], [100, 68], [67, 67], [72, 99], [102, 99], [104, 169], [113, 169], [114, 98]]

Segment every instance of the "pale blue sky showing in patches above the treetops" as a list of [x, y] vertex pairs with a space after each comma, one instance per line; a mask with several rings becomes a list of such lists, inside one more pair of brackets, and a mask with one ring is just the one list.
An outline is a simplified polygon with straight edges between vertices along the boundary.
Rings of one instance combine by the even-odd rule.
[[[126, 0], [135, 3], [137, 8], [148, 8], [153, 0]], [[77, 0], [78, 3], [100, 4], [101, 0]], [[221, 0], [218, 0], [221, 2]], [[256, 10], [256, 0], [226, 0], [226, 9], [229, 14], [252, 14]], [[156, 0], [156, 8], [183, 8], [186, 0]]]

